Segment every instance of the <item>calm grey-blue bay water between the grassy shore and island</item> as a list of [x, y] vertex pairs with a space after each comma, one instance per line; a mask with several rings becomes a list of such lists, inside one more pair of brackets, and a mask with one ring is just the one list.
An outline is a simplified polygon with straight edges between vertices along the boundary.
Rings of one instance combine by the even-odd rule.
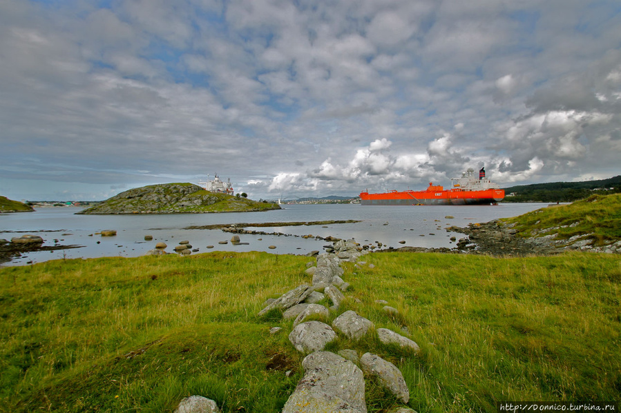
[[[497, 218], [517, 216], [546, 207], [544, 203], [506, 203], [499, 205], [428, 205], [428, 206], [372, 206], [372, 205], [283, 205], [282, 210], [268, 212], [240, 212], [226, 214], [171, 214], [171, 215], [75, 215], [80, 208], [40, 208], [36, 212], [0, 214], [0, 238], [11, 239], [20, 234], [37, 234], [44, 245], [81, 245], [81, 248], [48, 252], [30, 252], [3, 265], [24, 265], [30, 261], [50, 259], [96, 258], [100, 256], [140, 256], [164, 241], [171, 252], [179, 241], [190, 241], [199, 252], [269, 251], [274, 254], [307, 254], [322, 250], [327, 242], [303, 239], [306, 234], [356, 239], [359, 243], [379, 241], [386, 247], [439, 248], [454, 246], [447, 232], [449, 225], [465, 227], [468, 223], [486, 222]], [[453, 216], [447, 219], [445, 216]], [[283, 232], [289, 236], [240, 235], [248, 245], [218, 244], [228, 241], [231, 234], [221, 230], [184, 230], [191, 225], [216, 223], [263, 223], [321, 220], [360, 220], [359, 223], [326, 225], [282, 226], [256, 228], [265, 232]], [[254, 228], [247, 228], [254, 229]], [[101, 230], [117, 230], [117, 236], [95, 235]], [[153, 241], [144, 241], [145, 235]], [[399, 243], [405, 241], [405, 244]], [[207, 245], [214, 245], [208, 250]], [[276, 245], [275, 250], [268, 249]]]

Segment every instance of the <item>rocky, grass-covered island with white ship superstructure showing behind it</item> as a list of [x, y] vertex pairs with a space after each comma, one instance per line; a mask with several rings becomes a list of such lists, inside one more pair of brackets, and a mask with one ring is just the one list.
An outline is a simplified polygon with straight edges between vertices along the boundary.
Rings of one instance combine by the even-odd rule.
[[121, 192], [77, 214], [201, 214], [279, 209], [275, 203], [209, 192], [193, 183], [161, 183]]

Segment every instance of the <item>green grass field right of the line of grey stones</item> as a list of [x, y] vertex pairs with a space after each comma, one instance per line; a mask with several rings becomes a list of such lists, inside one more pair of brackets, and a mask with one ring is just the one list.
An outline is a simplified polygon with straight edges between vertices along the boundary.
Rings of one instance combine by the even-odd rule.
[[[406, 325], [422, 348], [401, 370], [419, 412], [496, 401], [619, 401], [621, 259], [374, 254], [348, 278], [377, 327]], [[372, 294], [367, 293], [373, 292]], [[385, 299], [402, 317], [386, 321]], [[368, 310], [373, 309], [373, 310]]]

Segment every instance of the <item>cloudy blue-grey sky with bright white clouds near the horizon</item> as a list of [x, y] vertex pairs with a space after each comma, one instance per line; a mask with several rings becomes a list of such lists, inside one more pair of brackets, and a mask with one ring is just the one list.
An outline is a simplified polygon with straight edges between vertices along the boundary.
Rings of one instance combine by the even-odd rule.
[[0, 0], [0, 194], [621, 174], [618, 0]]

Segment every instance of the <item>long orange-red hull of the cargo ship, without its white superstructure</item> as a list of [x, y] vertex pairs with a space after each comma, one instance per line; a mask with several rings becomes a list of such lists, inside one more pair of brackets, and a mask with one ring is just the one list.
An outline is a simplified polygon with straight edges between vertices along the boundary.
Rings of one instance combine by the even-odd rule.
[[381, 194], [361, 192], [362, 205], [490, 205], [504, 199], [504, 190], [488, 189], [439, 190], [432, 187], [424, 191], [390, 191]]

